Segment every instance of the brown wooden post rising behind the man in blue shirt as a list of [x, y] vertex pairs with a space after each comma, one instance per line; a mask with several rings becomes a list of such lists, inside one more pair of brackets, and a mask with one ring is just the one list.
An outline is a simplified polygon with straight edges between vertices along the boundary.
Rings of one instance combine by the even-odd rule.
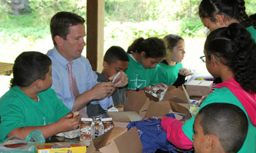
[[94, 71], [102, 71], [104, 56], [104, 0], [87, 0], [86, 56]]

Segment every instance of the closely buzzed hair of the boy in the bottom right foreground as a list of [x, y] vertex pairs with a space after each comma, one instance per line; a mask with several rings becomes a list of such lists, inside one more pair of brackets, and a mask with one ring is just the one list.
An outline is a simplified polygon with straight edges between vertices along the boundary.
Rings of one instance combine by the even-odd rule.
[[203, 134], [213, 134], [225, 152], [238, 152], [246, 139], [248, 120], [242, 109], [230, 103], [205, 105], [197, 115], [201, 117]]

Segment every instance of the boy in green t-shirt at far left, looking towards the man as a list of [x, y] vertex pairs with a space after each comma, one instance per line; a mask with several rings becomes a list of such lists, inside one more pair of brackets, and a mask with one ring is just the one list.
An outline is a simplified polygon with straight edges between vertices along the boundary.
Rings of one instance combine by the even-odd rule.
[[25, 139], [34, 130], [44, 138], [79, 127], [68, 107], [52, 90], [51, 59], [40, 52], [23, 52], [13, 67], [11, 88], [0, 99], [0, 141]]

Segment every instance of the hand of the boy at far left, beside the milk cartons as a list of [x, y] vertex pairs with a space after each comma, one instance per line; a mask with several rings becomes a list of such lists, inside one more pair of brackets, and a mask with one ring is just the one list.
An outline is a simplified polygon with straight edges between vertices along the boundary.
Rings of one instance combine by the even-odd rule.
[[69, 113], [66, 116], [63, 116], [57, 122], [57, 131], [66, 132], [72, 131], [79, 128], [80, 119], [79, 118], [72, 118], [72, 114]]

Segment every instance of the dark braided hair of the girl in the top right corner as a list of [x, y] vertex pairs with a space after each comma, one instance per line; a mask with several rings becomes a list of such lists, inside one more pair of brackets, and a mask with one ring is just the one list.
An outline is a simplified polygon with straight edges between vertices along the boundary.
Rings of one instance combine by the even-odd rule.
[[212, 22], [215, 22], [216, 14], [220, 14], [228, 16], [229, 19], [235, 18], [239, 22], [246, 20], [256, 27], [245, 10], [244, 0], [203, 0], [199, 5], [199, 16], [200, 18], [210, 18]]

